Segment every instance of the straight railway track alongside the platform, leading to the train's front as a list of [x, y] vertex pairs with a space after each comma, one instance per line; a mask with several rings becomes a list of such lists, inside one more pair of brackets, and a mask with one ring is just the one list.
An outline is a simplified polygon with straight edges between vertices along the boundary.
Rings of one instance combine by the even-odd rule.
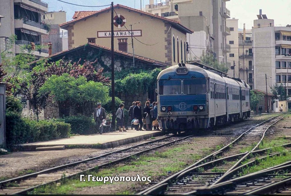
[[114, 163], [119, 163], [128, 158], [131, 158], [131, 156], [140, 155], [147, 151], [158, 149], [162, 146], [173, 144], [192, 136], [193, 135], [183, 138], [168, 136], [150, 142], [145, 142], [143, 144], [131, 146], [126, 149], [121, 149], [100, 156], [88, 158], [82, 161], [76, 161], [73, 163], [68, 163], [54, 168], [49, 168], [35, 173], [4, 180], [0, 182], [0, 195], [24, 194], [40, 185], [57, 182], [64, 176], [66, 178], [71, 178], [81, 173], [94, 170], [97, 166], [98, 168], [102, 168]]

